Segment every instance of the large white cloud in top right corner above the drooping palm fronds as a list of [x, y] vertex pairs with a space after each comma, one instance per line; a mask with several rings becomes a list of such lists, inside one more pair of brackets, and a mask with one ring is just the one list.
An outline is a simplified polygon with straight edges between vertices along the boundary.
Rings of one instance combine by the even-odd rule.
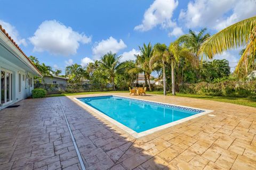
[[188, 28], [208, 27], [220, 30], [256, 14], [256, 3], [250, 0], [196, 0], [181, 10], [179, 20]]

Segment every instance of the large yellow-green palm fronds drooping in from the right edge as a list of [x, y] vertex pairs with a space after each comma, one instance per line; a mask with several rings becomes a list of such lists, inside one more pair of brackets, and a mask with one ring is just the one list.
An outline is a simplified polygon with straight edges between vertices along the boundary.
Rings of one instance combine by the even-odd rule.
[[[256, 16], [237, 22], [207, 38], [198, 51], [198, 55], [212, 59], [215, 54], [246, 46], [235, 72], [239, 77], [247, 75], [247, 68], [251, 66], [249, 60], [255, 60], [256, 52]], [[243, 69], [242, 69], [243, 68]]]

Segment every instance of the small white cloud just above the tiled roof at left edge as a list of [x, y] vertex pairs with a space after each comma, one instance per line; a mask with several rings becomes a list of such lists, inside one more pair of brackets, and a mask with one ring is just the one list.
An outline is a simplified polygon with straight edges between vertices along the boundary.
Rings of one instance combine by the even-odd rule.
[[3, 20], [0, 20], [0, 25], [3, 26], [3, 28], [6, 30], [6, 32], [11, 36], [11, 38], [18, 44], [18, 45], [23, 45], [27, 46], [27, 42], [24, 38], [20, 38], [18, 30], [11, 25], [8, 22], [5, 22]]

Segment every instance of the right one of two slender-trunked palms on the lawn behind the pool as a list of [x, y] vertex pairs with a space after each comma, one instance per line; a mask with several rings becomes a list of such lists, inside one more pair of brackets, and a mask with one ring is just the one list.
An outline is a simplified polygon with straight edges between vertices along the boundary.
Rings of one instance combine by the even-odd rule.
[[180, 42], [178, 40], [170, 44], [169, 54], [172, 67], [172, 95], [175, 95], [174, 64], [175, 62], [179, 62], [181, 56], [185, 58], [194, 58], [195, 55], [194, 53], [190, 52], [190, 50], [186, 47], [181, 47]]

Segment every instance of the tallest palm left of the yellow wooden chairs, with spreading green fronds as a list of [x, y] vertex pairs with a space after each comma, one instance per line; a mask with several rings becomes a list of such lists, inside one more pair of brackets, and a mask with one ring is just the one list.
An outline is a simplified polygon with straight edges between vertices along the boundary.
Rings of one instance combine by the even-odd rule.
[[114, 53], [107, 53], [105, 55], [103, 55], [101, 57], [101, 65], [102, 65], [102, 68], [105, 69], [105, 71], [108, 73], [109, 75], [109, 79], [112, 83], [112, 87], [113, 89], [116, 91], [116, 88], [115, 88], [115, 74], [116, 74], [116, 71], [119, 69], [118, 66], [119, 66], [119, 59], [121, 58], [122, 56], [118, 56], [116, 57], [116, 54]]

